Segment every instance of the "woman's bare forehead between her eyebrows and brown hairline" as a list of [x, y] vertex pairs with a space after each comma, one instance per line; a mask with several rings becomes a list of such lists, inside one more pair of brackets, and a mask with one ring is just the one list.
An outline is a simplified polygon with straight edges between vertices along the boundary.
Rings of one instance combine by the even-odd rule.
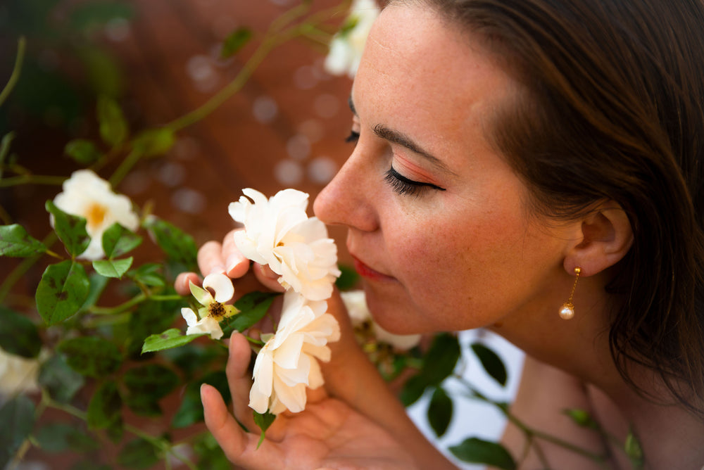
[[472, 34], [417, 4], [384, 8], [353, 87], [360, 116], [423, 141], [486, 125], [512, 94], [512, 80]]

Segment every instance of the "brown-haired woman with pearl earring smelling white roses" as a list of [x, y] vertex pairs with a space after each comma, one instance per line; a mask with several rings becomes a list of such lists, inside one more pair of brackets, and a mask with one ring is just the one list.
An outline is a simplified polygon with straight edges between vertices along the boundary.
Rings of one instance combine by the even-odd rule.
[[[314, 206], [348, 228], [384, 329], [493, 329], [527, 352], [517, 417], [605, 452], [612, 443], [561, 413], [589, 409], [620, 440], [632, 428], [649, 469], [704, 465], [703, 32], [698, 0], [391, 1], [351, 93], [356, 147]], [[201, 248], [203, 272], [244, 277], [230, 239]], [[260, 450], [201, 390], [227, 456], [247, 468], [451, 466], [356, 348], [337, 296], [330, 308], [343, 338], [326, 390], [279, 417]], [[233, 336], [230, 351], [234, 414], [251, 424], [249, 346]], [[517, 429], [503, 442], [522, 456]], [[601, 468], [540, 448], [555, 469]], [[534, 452], [521, 468], [539, 468]]]

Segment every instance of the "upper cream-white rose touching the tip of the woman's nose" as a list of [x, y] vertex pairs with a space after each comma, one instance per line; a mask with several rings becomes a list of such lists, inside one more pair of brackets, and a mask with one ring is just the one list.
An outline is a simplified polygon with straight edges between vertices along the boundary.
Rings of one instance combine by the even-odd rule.
[[327, 237], [325, 224], [308, 218], [308, 194], [284, 189], [267, 199], [259, 191], [243, 189], [245, 196], [230, 203], [232, 218], [244, 224], [234, 234], [237, 248], [250, 260], [269, 265], [279, 284], [309, 300], [325, 300], [340, 275], [337, 246]]

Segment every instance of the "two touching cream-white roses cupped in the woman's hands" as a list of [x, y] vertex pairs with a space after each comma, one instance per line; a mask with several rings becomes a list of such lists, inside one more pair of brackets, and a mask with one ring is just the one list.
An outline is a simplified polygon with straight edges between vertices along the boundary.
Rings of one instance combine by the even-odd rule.
[[230, 215], [244, 224], [234, 234], [237, 248], [250, 260], [269, 265], [287, 288], [276, 333], [254, 364], [249, 406], [278, 414], [306, 407], [306, 388], [323, 379], [317, 360], [328, 361], [327, 343], [340, 337], [337, 320], [326, 313], [337, 269], [337, 246], [325, 224], [306, 215], [308, 194], [284, 189], [267, 199], [253, 189], [230, 204]]

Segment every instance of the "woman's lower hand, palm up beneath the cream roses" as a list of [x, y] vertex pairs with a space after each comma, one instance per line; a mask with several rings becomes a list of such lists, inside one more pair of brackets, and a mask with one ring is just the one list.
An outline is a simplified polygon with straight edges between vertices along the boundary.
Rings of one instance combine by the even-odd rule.
[[409, 453], [388, 431], [322, 389], [309, 393], [303, 412], [279, 414], [257, 449], [260, 431], [247, 406], [250, 355], [246, 339], [233, 334], [227, 379], [234, 414], [251, 432], [227, 412], [218, 390], [201, 388], [206, 425], [231, 462], [246, 469], [415, 468]]

